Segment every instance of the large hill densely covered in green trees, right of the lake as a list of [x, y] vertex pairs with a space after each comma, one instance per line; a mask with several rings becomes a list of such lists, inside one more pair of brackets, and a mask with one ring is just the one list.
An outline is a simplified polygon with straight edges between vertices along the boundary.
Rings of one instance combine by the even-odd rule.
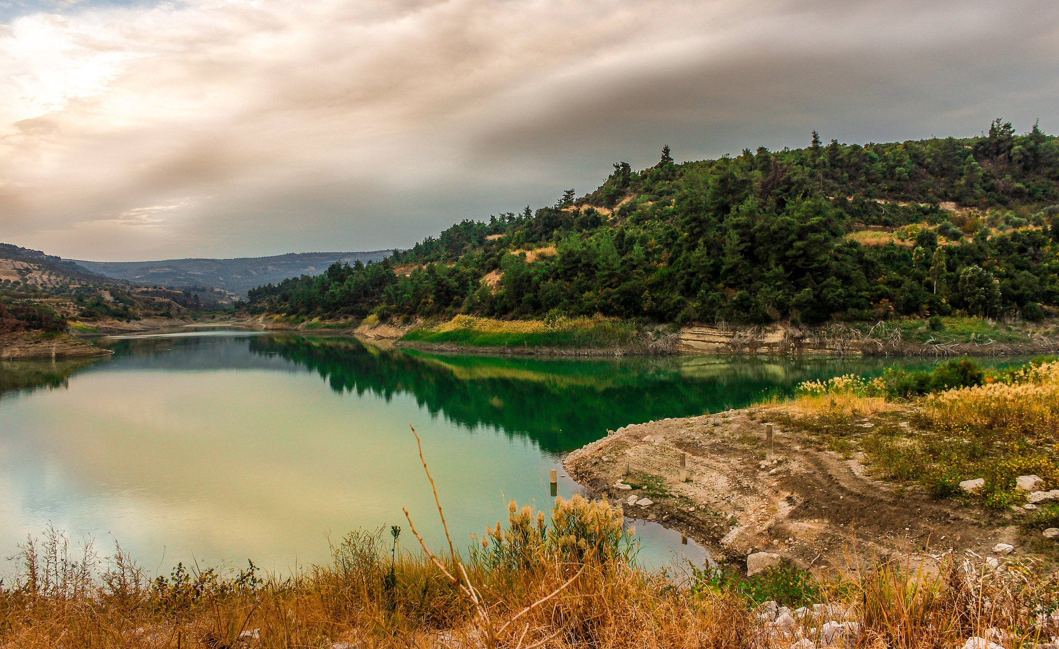
[[[744, 149], [464, 220], [380, 263], [249, 291], [254, 312], [768, 323], [1040, 319], [1059, 301], [1059, 138], [1036, 125], [889, 144]], [[1042, 309], [1044, 305], [1045, 309]]]

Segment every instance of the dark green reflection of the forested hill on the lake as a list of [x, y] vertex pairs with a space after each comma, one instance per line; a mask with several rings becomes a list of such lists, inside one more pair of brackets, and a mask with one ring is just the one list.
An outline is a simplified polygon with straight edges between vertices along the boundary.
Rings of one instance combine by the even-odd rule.
[[431, 414], [470, 429], [527, 436], [552, 452], [577, 448], [627, 423], [739, 408], [769, 390], [788, 391], [854, 364], [869, 369], [864, 361], [840, 359], [448, 356], [299, 336], [254, 338], [249, 345], [255, 354], [304, 365], [335, 391], [387, 400], [409, 394]]

